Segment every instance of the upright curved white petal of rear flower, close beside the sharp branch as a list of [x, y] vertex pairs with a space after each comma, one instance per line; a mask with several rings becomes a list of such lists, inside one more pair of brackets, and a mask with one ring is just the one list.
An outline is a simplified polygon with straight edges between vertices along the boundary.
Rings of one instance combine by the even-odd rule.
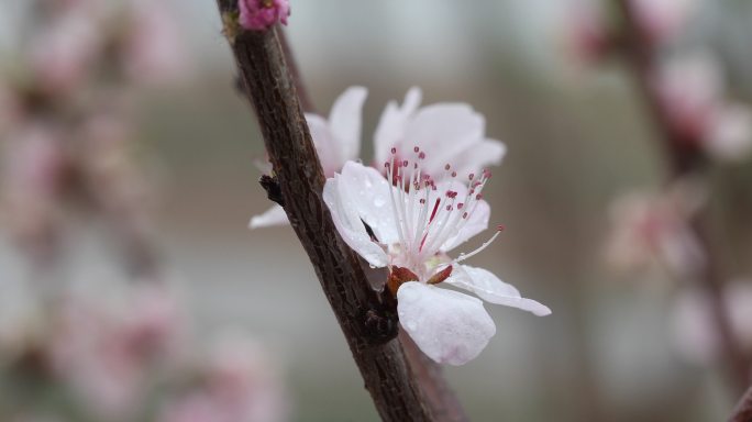
[[356, 159], [361, 153], [361, 124], [363, 102], [368, 90], [363, 87], [347, 88], [334, 101], [329, 114], [329, 125], [338, 142], [341, 157], [344, 160]]

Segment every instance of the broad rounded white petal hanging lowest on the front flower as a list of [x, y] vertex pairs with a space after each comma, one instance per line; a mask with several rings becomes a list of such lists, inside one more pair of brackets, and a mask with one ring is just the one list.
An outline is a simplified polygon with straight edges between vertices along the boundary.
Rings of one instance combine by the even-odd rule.
[[397, 290], [397, 313], [418, 347], [440, 364], [466, 364], [496, 334], [482, 301], [416, 281]]

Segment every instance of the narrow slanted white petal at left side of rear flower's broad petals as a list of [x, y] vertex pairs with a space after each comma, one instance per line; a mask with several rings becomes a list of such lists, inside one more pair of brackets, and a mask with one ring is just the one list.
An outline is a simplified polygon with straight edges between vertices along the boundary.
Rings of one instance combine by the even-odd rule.
[[389, 159], [391, 147], [397, 146], [405, 136], [406, 125], [409, 119], [418, 110], [422, 92], [420, 88], [412, 87], [405, 96], [402, 106], [390, 101], [381, 113], [374, 135], [374, 159], [376, 165], [381, 165]]

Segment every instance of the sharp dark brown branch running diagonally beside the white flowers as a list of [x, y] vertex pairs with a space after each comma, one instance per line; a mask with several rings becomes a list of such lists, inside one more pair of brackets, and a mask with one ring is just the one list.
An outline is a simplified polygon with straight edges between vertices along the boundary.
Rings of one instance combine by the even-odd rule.
[[[218, 0], [223, 19], [235, 2]], [[225, 20], [226, 22], [226, 20]], [[374, 290], [322, 201], [324, 178], [276, 30], [225, 33], [292, 229], [306, 249], [351, 352], [385, 421], [450, 420], [411, 376], [394, 304]], [[464, 419], [464, 418], [463, 418]], [[463, 420], [460, 419], [460, 420]]]

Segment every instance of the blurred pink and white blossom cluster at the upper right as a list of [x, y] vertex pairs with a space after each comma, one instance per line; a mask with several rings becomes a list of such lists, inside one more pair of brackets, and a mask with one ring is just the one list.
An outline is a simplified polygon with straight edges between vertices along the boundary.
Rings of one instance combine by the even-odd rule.
[[[623, 21], [598, 3], [576, 1], [566, 27], [574, 56], [597, 63], [630, 48]], [[727, 98], [723, 69], [707, 51], [684, 51], [677, 43], [696, 15], [697, 0], [628, 0], [643, 48], [655, 56], [648, 71], [663, 119], [676, 133], [679, 148], [718, 162], [739, 162], [752, 152], [752, 108]], [[659, 54], [663, 52], [671, 54]]]

